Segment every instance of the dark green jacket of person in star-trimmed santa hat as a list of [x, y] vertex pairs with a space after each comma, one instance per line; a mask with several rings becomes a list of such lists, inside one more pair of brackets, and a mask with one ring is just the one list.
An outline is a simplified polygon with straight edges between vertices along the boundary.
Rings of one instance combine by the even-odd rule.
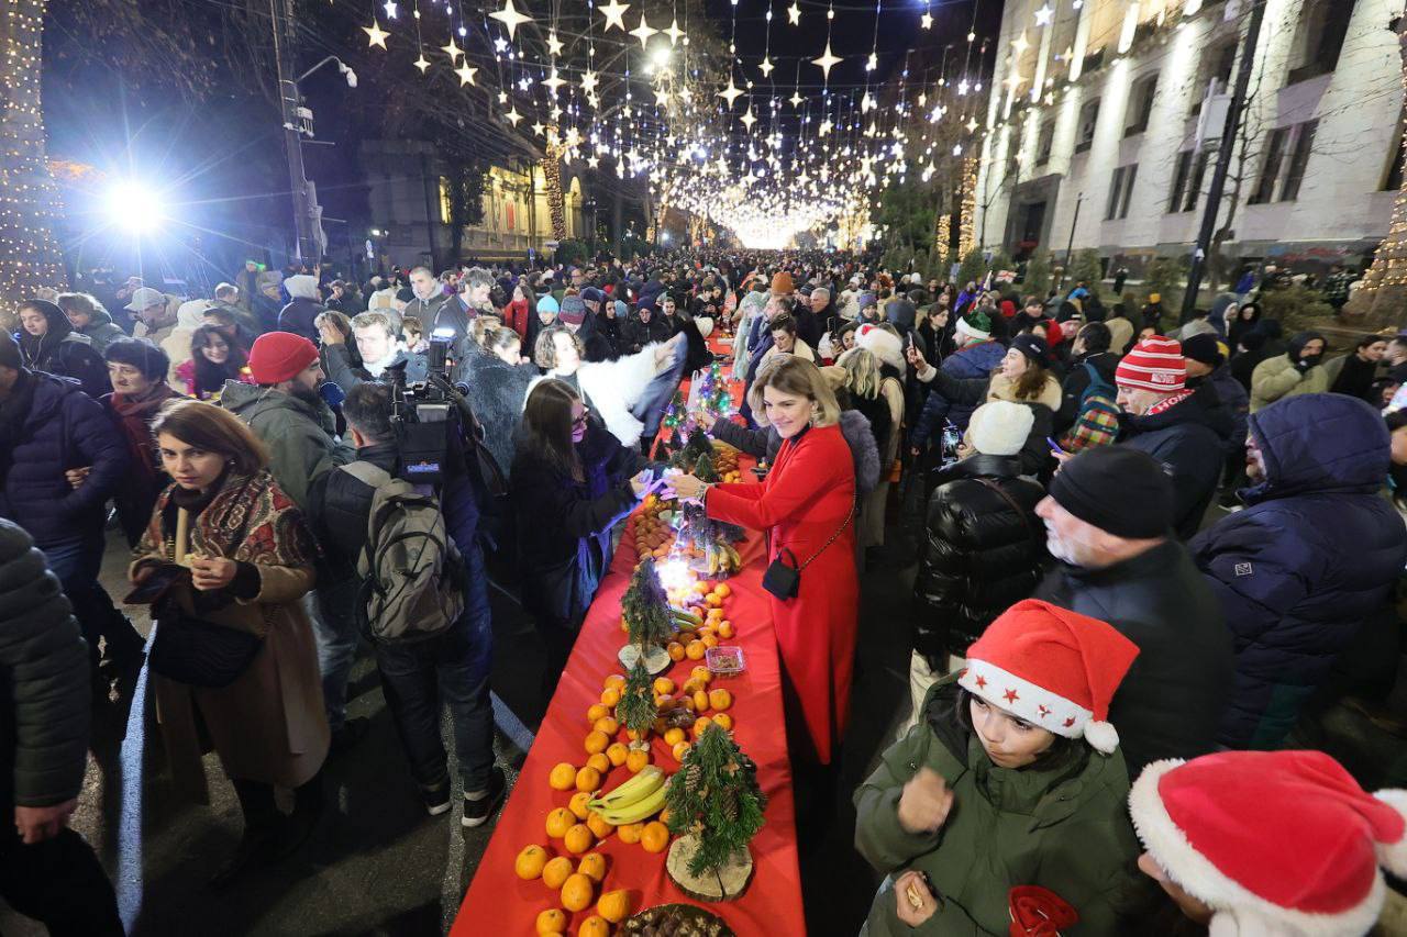
[[[999, 768], [958, 723], [957, 691], [955, 677], [938, 682], [919, 725], [884, 753], [855, 791], [860, 854], [893, 877], [924, 872], [943, 899], [933, 917], [910, 929], [895, 914], [893, 891], [879, 892], [865, 922], [868, 937], [1005, 936], [1016, 885], [1047, 888], [1075, 907], [1079, 924], [1061, 933], [1120, 933], [1121, 912], [1145, 886], [1120, 751], [1089, 750], [1062, 768]], [[943, 775], [954, 796], [936, 833], [909, 833], [899, 824], [899, 796], [920, 767]]]

